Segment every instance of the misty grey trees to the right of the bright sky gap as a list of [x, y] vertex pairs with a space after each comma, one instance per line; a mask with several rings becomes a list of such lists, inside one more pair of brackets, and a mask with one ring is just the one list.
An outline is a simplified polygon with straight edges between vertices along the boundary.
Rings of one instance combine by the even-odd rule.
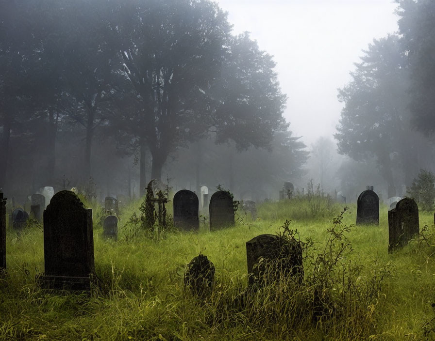
[[399, 31], [373, 40], [339, 90], [341, 154], [374, 158], [388, 196], [435, 166], [435, 1], [397, 0]]

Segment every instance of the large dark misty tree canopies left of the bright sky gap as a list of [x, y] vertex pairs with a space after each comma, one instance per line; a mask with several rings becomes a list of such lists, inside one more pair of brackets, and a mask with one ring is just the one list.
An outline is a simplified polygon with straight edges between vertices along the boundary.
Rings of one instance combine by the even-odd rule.
[[130, 157], [143, 193], [147, 166], [160, 180], [210, 138], [284, 148], [269, 176], [300, 173], [274, 66], [209, 0], [0, 0], [0, 186], [86, 181]]

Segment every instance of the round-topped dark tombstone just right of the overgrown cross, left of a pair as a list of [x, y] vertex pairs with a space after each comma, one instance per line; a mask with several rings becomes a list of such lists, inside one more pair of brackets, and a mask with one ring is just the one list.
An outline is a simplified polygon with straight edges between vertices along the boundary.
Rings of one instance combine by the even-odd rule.
[[182, 189], [174, 195], [174, 226], [185, 231], [198, 231], [199, 200], [197, 195], [188, 189]]

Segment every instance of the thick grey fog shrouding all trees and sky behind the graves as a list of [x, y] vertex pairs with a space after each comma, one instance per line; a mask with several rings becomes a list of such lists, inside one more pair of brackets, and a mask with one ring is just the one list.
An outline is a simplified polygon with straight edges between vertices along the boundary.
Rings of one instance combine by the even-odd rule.
[[[356, 200], [435, 171], [434, 2], [0, 1], [0, 187]], [[419, 18], [419, 19], [417, 19]]]

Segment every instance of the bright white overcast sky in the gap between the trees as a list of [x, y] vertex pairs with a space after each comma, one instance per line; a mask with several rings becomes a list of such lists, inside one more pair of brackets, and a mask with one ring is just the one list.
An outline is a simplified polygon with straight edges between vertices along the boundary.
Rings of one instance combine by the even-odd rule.
[[351, 78], [373, 38], [398, 30], [391, 0], [217, 0], [233, 33], [251, 32], [274, 56], [283, 93], [284, 117], [308, 146], [331, 136], [342, 104], [337, 88]]

